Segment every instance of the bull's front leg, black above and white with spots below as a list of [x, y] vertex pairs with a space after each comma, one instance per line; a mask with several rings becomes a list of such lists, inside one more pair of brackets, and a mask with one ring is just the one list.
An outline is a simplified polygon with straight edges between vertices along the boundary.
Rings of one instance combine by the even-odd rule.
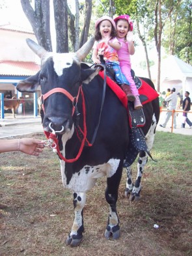
[[[118, 173], [118, 175], [120, 174]], [[107, 239], [111, 236], [113, 239], [118, 239], [120, 236], [120, 227], [116, 208], [119, 183], [120, 177], [117, 177], [116, 175], [113, 175], [111, 178], [107, 178], [107, 189], [105, 190], [105, 199], [109, 204], [109, 218], [105, 229], [105, 238]]]

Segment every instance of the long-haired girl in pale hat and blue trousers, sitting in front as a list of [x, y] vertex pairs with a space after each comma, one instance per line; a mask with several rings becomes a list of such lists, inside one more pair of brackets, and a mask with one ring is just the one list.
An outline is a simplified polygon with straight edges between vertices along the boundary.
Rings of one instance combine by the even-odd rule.
[[92, 61], [94, 63], [101, 63], [99, 54], [102, 54], [105, 62], [115, 71], [115, 79], [126, 93], [128, 100], [135, 100], [135, 96], [130, 93], [129, 82], [126, 76], [122, 74], [118, 62], [117, 50], [120, 49], [120, 42], [115, 37], [116, 25], [115, 21], [109, 16], [103, 16], [95, 23], [96, 32], [92, 52]]

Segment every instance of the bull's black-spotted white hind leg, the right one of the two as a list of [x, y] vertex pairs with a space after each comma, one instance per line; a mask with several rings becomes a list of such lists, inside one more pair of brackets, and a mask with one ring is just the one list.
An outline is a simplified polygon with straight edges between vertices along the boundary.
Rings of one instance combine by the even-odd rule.
[[141, 177], [143, 175], [144, 166], [146, 165], [148, 156], [146, 152], [141, 151], [139, 153], [139, 159], [137, 163], [137, 179], [135, 180], [135, 185], [133, 186], [133, 191], [130, 195], [130, 201], [138, 201], [140, 199], [141, 192]]

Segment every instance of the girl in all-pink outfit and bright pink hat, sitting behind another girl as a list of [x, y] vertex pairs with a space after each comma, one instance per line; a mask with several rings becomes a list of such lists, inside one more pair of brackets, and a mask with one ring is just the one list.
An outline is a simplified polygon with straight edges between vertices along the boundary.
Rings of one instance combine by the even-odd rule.
[[118, 16], [114, 21], [117, 27], [117, 39], [121, 45], [120, 49], [117, 50], [120, 68], [130, 83], [130, 93], [135, 96], [134, 109], [141, 109], [143, 106], [139, 99], [139, 92], [131, 76], [130, 55], [135, 53], [132, 32], [133, 22], [131, 21], [129, 15]]

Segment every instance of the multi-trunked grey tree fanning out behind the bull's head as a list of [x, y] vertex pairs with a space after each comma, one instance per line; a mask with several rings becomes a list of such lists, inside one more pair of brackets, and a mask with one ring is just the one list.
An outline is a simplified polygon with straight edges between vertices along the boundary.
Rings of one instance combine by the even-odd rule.
[[[27, 16], [40, 46], [47, 51], [52, 51], [49, 0], [34, 0], [34, 8], [30, 0], [21, 0], [23, 12]], [[72, 14], [67, 0], [54, 0], [54, 20], [56, 31], [56, 51], [68, 52], [68, 34], [74, 51], [87, 42], [89, 25], [92, 13], [92, 0], [85, 0], [85, 20], [79, 43], [79, 1], [75, 0], [76, 15]]]

